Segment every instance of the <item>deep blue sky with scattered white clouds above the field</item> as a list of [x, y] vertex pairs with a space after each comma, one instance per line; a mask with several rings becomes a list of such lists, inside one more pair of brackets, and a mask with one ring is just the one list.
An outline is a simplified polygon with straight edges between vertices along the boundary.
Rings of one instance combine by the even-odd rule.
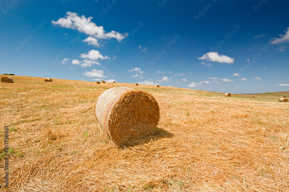
[[3, 0], [0, 73], [288, 91], [288, 7], [285, 0]]

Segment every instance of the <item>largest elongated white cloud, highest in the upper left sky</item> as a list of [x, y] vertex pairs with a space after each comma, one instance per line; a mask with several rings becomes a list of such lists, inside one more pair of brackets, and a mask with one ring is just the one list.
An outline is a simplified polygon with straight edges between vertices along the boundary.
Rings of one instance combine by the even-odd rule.
[[60, 25], [64, 28], [76, 29], [81, 33], [85, 33], [96, 39], [114, 38], [118, 41], [123, 40], [128, 34], [121, 34], [116, 31], [105, 32], [103, 26], [97, 26], [91, 21], [92, 17], [86, 18], [84, 15], [79, 16], [77, 13], [67, 12], [66, 16], [59, 18], [57, 21], [52, 20], [54, 25]]

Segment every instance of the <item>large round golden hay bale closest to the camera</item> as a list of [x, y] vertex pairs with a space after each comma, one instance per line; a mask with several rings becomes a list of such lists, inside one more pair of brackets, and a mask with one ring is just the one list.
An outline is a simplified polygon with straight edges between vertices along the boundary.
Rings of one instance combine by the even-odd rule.
[[145, 91], [111, 88], [99, 96], [95, 117], [117, 145], [155, 131], [160, 118], [158, 102]]

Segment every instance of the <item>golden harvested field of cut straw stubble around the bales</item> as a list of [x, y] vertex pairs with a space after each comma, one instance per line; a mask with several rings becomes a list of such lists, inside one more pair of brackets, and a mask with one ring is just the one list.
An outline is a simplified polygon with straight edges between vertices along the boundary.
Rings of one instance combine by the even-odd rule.
[[[288, 92], [224, 97], [14, 77], [0, 83], [0, 191], [289, 191], [289, 104], [276, 99]], [[98, 96], [120, 86], [149, 92], [160, 108], [157, 130], [126, 147], [107, 138], [94, 115]]]

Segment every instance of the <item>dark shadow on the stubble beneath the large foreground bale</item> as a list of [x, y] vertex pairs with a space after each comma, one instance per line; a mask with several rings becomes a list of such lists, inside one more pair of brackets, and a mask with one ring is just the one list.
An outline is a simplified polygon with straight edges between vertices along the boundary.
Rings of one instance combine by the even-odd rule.
[[136, 145], [143, 145], [143, 144], [150, 142], [151, 140], [156, 141], [156, 140], [159, 140], [162, 138], [172, 138], [173, 136], [175, 136], [175, 134], [168, 132], [165, 129], [157, 127], [156, 131], [153, 132], [152, 134], [134, 139], [134, 140], [130, 141], [129, 143], [127, 143], [126, 145], [118, 145], [118, 147], [124, 149], [125, 147], [133, 147]]

